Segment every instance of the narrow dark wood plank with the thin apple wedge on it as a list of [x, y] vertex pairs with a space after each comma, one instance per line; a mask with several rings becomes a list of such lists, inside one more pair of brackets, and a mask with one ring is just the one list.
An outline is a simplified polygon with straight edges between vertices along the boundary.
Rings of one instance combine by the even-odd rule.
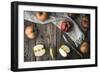
[[52, 51], [50, 53], [50, 58], [51, 58], [51, 60], [56, 60], [56, 58], [57, 58], [56, 26], [52, 23], [50, 23], [48, 25], [49, 25], [48, 31], [49, 31], [49, 36], [50, 36], [49, 52], [50, 52], [50, 50]]

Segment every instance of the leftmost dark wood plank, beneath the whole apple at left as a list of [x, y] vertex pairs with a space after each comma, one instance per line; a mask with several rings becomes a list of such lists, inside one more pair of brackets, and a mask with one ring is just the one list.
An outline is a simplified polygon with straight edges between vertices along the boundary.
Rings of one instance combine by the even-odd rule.
[[[27, 26], [27, 24], [30, 24], [32, 22], [24, 21], [24, 27]], [[35, 45], [35, 40], [29, 40], [26, 35], [24, 34], [24, 61], [35, 61], [35, 56], [33, 52], [33, 47]]]

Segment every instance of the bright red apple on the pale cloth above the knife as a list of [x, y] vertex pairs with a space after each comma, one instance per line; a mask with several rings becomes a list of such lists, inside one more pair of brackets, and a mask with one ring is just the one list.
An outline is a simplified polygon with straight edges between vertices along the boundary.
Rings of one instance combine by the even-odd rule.
[[64, 32], [69, 32], [72, 23], [70, 21], [62, 21], [60, 24], [60, 29]]

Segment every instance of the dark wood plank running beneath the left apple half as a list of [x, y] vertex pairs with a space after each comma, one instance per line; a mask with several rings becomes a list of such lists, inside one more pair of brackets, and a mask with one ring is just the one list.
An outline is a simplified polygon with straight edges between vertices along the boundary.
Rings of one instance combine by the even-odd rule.
[[47, 26], [45, 24], [37, 24], [38, 26], [38, 30], [39, 30], [39, 35], [38, 38], [36, 40], [36, 45], [37, 44], [43, 44], [46, 50], [46, 53], [41, 56], [41, 57], [36, 57], [36, 61], [45, 61], [49, 59], [49, 54], [48, 54], [48, 38], [45, 36], [46, 35], [46, 29]]

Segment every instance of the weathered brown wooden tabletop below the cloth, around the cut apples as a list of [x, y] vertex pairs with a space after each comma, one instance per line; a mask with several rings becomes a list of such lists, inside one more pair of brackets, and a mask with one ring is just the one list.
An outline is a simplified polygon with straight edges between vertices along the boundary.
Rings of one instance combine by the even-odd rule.
[[[24, 21], [25, 25], [32, 23], [30, 21]], [[48, 24], [36, 24], [38, 28], [38, 36], [36, 39], [29, 40], [24, 35], [24, 61], [46, 61], [46, 60], [68, 60], [68, 59], [80, 59], [80, 56], [71, 48], [68, 57], [63, 58], [59, 53], [59, 48], [62, 44], [68, 45], [62, 37], [64, 34], [58, 27], [52, 23]], [[37, 44], [43, 44], [45, 46], [46, 53], [42, 57], [35, 57], [33, 47]], [[50, 55], [50, 48], [53, 51], [53, 58]]]

